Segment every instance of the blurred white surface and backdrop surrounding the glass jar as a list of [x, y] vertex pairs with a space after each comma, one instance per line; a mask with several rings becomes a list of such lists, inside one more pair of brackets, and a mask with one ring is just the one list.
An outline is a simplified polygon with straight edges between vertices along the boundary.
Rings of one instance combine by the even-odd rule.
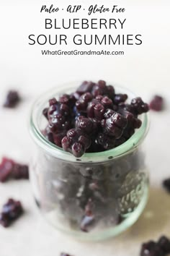
[[[122, 3], [128, 6], [128, 1]], [[25, 214], [9, 229], [0, 227], [0, 255], [58, 256], [64, 251], [74, 256], [138, 256], [142, 242], [158, 239], [161, 234], [170, 236], [170, 195], [161, 187], [162, 180], [170, 176], [170, 3], [130, 1], [130, 23], [125, 33], [142, 33], [143, 45], [124, 47], [125, 56], [92, 58], [45, 57], [40, 55], [40, 47], [28, 46], [27, 35], [42, 32], [43, 19], [36, 9], [40, 1], [36, 4], [17, 0], [0, 3], [0, 105], [8, 88], [17, 88], [24, 99], [15, 110], [0, 108], [0, 156], [30, 163], [30, 106], [38, 95], [63, 82], [113, 81], [134, 90], [146, 101], [155, 93], [163, 95], [166, 109], [151, 112], [151, 129], [145, 142], [151, 195], [146, 210], [131, 229], [105, 242], [75, 241], [45, 223], [35, 206], [29, 182], [12, 181], [0, 184], [0, 207], [8, 197], [14, 197], [23, 202]]]

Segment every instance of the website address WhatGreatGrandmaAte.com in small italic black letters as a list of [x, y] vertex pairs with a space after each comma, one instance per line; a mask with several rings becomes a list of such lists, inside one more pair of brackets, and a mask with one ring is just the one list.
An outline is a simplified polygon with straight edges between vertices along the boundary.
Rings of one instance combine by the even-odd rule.
[[104, 51], [104, 50], [101, 50], [101, 51], [78, 51], [78, 50], [73, 50], [73, 51], [62, 51], [62, 50], [58, 50], [58, 51], [49, 51], [49, 50], [42, 50], [42, 55], [58, 55], [58, 56], [61, 56], [61, 55], [75, 55], [75, 56], [82, 56], [82, 55], [98, 55], [98, 56], [119, 56], [119, 55], [124, 55], [125, 52], [124, 51]]

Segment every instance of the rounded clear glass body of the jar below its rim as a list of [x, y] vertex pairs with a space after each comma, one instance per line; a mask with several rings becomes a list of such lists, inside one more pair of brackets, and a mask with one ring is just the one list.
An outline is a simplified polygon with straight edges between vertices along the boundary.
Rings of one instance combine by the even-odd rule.
[[143, 151], [138, 147], [108, 158], [73, 163], [37, 150], [31, 182], [37, 205], [50, 223], [85, 239], [99, 239], [136, 221], [148, 196]]

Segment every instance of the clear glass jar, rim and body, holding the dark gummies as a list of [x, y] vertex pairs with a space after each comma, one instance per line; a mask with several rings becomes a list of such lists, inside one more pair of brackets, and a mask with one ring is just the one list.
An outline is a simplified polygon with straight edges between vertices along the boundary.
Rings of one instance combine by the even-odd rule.
[[[55, 88], [35, 102], [30, 132], [37, 150], [30, 181], [38, 207], [58, 230], [79, 239], [106, 239], [133, 225], [146, 206], [148, 171], [142, 142], [148, 115], [141, 115], [140, 129], [119, 147], [76, 159], [42, 135], [47, 125], [42, 110], [50, 98], [71, 93], [78, 85]], [[115, 89], [135, 97], [125, 88]]]

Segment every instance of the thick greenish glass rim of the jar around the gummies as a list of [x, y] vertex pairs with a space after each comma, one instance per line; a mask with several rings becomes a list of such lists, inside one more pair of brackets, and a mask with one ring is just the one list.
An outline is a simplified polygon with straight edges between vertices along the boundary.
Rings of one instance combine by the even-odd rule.
[[[32, 106], [31, 114], [30, 114], [30, 134], [35, 141], [35, 143], [42, 148], [42, 150], [45, 150], [46, 153], [49, 155], [53, 155], [55, 158], [60, 158], [65, 161], [71, 161], [71, 162], [95, 162], [99, 163], [102, 161], [110, 161], [113, 158], [118, 158], [122, 155], [126, 155], [127, 153], [132, 152], [135, 150], [135, 148], [138, 148], [138, 145], [140, 145], [141, 142], [143, 142], [144, 138], [146, 137], [148, 133], [148, 114], [142, 114], [141, 120], [142, 125], [139, 129], [135, 130], [135, 133], [130, 139], [128, 139], [126, 142], [122, 143], [122, 145], [117, 146], [116, 148], [112, 148], [111, 150], [106, 150], [102, 152], [97, 153], [84, 153], [84, 155], [81, 156], [81, 158], [76, 158], [71, 153], [68, 153], [64, 151], [62, 148], [58, 147], [57, 145], [53, 144], [49, 140], [45, 138], [44, 135], [42, 135], [42, 130], [40, 130], [40, 127], [38, 125], [38, 119], [42, 117], [42, 109], [45, 108], [45, 104], [48, 103], [49, 98], [57, 97], [59, 93], [68, 93], [68, 90], [71, 90], [71, 88], [75, 88], [76, 85], [79, 85], [81, 82], [71, 82], [66, 83], [65, 85], [62, 85], [58, 90], [58, 88], [54, 88], [53, 90], [48, 91], [47, 93], [44, 93], [42, 96], [37, 98], [35, 103]], [[113, 84], [113, 83], [112, 83]], [[129, 89], [124, 88], [120, 85], [113, 85], [114, 88], [117, 90], [122, 90], [122, 93], [127, 93], [128, 95], [131, 95], [131, 98], [135, 98], [136, 95], [132, 93]]]

